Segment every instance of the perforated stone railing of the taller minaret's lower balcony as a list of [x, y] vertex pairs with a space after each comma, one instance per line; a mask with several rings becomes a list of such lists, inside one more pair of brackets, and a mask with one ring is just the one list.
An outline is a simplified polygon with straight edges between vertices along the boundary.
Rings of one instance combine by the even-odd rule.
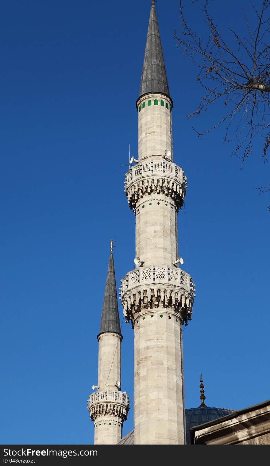
[[128, 272], [121, 280], [121, 294], [124, 294], [128, 288], [133, 288], [138, 284], [148, 284], [155, 282], [158, 284], [170, 283], [174, 285], [181, 285], [187, 291], [194, 293], [194, 282], [187, 272], [180, 268], [164, 266], [138, 267]]

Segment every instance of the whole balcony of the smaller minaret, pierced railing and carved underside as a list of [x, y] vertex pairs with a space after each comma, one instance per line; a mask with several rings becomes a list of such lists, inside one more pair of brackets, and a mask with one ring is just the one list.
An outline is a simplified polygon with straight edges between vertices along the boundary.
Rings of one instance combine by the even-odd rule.
[[117, 416], [125, 421], [129, 411], [129, 396], [123, 391], [98, 390], [87, 401], [90, 418], [94, 421], [99, 416]]

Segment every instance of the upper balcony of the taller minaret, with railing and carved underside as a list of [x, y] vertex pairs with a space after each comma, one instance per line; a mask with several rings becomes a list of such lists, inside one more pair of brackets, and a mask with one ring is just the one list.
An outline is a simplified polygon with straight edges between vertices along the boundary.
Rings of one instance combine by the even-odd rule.
[[177, 210], [183, 205], [187, 189], [184, 171], [178, 165], [158, 157], [132, 166], [125, 174], [125, 194], [133, 212], [138, 199], [152, 193], [171, 197]]

